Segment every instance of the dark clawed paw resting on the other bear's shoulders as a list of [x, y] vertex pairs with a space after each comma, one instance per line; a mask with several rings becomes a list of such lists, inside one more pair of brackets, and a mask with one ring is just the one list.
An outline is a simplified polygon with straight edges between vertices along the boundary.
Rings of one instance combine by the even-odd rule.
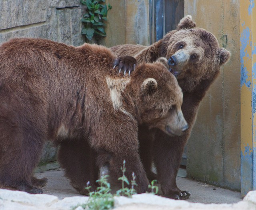
[[130, 76], [132, 71], [135, 70], [136, 64], [137, 61], [134, 57], [125, 55], [115, 59], [113, 68], [117, 68], [119, 74], [121, 72], [124, 72], [124, 76], [126, 75], [126, 73], [128, 73], [128, 76]]

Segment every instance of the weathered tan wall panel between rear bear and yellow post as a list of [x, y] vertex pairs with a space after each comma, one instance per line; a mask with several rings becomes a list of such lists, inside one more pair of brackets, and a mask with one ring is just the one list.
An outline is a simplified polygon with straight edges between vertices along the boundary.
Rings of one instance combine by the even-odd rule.
[[184, 14], [212, 32], [230, 61], [203, 99], [187, 148], [190, 177], [240, 190], [239, 0], [186, 0]]

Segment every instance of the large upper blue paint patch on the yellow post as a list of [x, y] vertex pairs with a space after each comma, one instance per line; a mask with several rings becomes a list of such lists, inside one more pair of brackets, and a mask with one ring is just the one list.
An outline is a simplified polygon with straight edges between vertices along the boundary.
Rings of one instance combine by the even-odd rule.
[[246, 51], [246, 47], [249, 44], [250, 40], [250, 29], [246, 27], [240, 37], [240, 43], [241, 43], [241, 49], [240, 49], [240, 63], [241, 63], [241, 81], [240, 85], [241, 87], [243, 85], [246, 85], [246, 87], [251, 88], [251, 82], [248, 80], [248, 71], [246, 67], [244, 66], [244, 57], [250, 57], [248, 52]]

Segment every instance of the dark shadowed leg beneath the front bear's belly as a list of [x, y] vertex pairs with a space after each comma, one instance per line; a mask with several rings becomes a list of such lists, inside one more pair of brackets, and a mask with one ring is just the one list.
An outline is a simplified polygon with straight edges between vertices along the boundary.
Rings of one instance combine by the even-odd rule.
[[60, 143], [58, 161], [65, 170], [70, 184], [80, 193], [88, 195], [88, 181], [92, 191], [96, 190], [99, 168], [96, 165], [96, 152], [86, 139], [66, 140]]

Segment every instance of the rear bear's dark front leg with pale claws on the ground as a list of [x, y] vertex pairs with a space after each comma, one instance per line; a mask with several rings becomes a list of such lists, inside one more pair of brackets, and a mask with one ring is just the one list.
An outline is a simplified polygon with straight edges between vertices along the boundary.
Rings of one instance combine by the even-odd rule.
[[186, 137], [170, 137], [162, 131], [156, 132], [154, 141], [154, 162], [157, 177], [165, 197], [185, 200], [190, 192], [180, 190], [176, 184], [176, 176], [180, 166]]

